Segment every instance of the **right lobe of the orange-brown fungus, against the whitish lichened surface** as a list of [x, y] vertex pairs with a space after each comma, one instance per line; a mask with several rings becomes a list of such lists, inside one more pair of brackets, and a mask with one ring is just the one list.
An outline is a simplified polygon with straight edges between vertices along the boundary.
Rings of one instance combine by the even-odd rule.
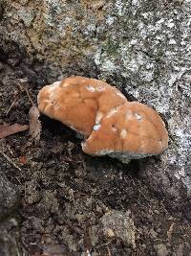
[[92, 155], [109, 154], [123, 162], [158, 154], [168, 146], [168, 133], [159, 114], [137, 102], [113, 108], [82, 145]]

